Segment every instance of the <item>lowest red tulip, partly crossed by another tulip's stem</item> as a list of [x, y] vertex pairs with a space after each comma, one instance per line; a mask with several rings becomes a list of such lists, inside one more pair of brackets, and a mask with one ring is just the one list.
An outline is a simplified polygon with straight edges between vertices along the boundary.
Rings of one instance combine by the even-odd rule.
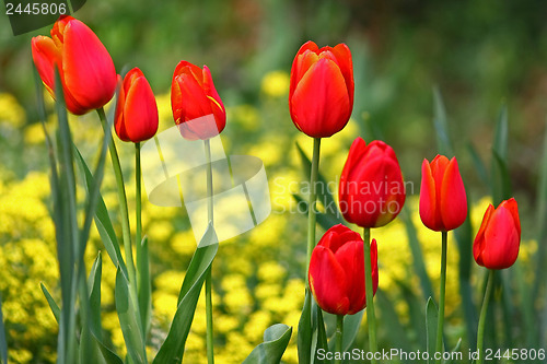
[[[323, 310], [352, 315], [366, 306], [363, 239], [350, 228], [330, 227], [312, 251], [309, 280], [312, 293]], [[376, 240], [371, 244], [373, 294], [377, 289]]]

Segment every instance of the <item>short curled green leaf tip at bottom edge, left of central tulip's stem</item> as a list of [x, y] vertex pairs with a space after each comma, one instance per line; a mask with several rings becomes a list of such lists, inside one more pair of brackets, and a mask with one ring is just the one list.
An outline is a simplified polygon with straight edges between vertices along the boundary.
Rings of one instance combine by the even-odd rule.
[[258, 344], [243, 364], [279, 364], [291, 340], [292, 328], [276, 324], [264, 331], [264, 342]]

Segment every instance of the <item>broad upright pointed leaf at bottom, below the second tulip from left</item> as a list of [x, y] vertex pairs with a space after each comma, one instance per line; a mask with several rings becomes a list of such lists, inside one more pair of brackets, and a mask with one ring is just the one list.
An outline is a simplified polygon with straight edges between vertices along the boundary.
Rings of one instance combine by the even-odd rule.
[[120, 268], [116, 272], [116, 310], [118, 313], [119, 325], [124, 333], [127, 352], [133, 363], [147, 363], [144, 342], [142, 341], [142, 328], [138, 313], [137, 297], [133, 297], [129, 282], [121, 273]]

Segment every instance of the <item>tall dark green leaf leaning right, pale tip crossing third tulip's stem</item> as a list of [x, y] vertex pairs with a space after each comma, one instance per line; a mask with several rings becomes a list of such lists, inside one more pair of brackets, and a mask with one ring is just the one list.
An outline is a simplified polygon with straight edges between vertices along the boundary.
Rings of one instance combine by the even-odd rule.
[[217, 234], [212, 225], [209, 224], [186, 271], [178, 296], [178, 307], [171, 324], [170, 332], [160, 348], [158, 355], [154, 357], [153, 363], [170, 364], [182, 362], [184, 347], [190, 331], [201, 286], [218, 248]]

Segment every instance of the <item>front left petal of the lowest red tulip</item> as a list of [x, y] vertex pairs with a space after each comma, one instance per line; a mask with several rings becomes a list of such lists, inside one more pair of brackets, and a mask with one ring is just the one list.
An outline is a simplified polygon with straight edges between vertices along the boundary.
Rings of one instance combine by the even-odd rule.
[[346, 315], [349, 298], [346, 272], [329, 249], [318, 245], [310, 260], [310, 286], [321, 308], [329, 314]]

